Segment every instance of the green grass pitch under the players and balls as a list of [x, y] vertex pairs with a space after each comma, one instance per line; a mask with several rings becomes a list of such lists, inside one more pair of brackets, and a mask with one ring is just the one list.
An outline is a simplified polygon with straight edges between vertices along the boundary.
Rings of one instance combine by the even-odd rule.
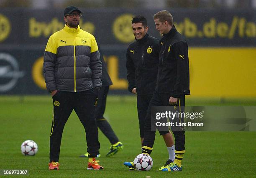
[[[256, 103], [251, 102], [250, 105]], [[158, 170], [166, 162], [168, 153], [162, 137], [156, 132], [151, 154], [153, 168], [150, 171], [129, 171], [123, 162], [132, 161], [141, 153], [136, 98], [112, 96], [108, 97], [105, 117], [123, 142], [124, 149], [113, 157], [106, 158], [110, 142], [99, 131], [102, 155], [99, 160], [104, 170], [87, 170], [87, 158], [79, 158], [79, 155], [86, 153], [84, 128], [77, 115], [72, 112], [62, 136], [60, 170], [49, 171], [51, 110], [50, 96], [0, 97], [0, 170], [29, 170], [30, 177], [255, 176], [256, 132], [186, 132], [186, 150], [181, 172]], [[20, 145], [25, 140], [34, 140], [38, 144], [35, 156], [23, 156], [20, 153]]]

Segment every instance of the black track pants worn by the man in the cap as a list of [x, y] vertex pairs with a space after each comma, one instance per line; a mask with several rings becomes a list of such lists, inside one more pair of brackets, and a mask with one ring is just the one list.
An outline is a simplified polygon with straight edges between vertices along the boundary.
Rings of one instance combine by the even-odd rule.
[[96, 157], [99, 154], [100, 142], [98, 141], [98, 129], [95, 120], [96, 98], [97, 91], [95, 89], [77, 93], [58, 91], [53, 96], [50, 162], [59, 162], [62, 132], [73, 109], [86, 132], [87, 152], [91, 157]]

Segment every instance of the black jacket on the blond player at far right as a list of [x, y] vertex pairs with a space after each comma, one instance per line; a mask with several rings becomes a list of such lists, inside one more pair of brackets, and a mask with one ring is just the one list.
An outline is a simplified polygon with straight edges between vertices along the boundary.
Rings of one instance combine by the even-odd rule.
[[161, 38], [160, 44], [156, 91], [175, 98], [190, 94], [187, 41], [173, 25], [169, 33]]

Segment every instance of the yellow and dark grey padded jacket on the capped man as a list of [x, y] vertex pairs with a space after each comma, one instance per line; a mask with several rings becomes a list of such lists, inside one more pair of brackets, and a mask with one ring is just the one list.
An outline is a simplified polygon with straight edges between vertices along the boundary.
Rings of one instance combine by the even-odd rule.
[[67, 25], [48, 40], [44, 78], [49, 92], [81, 92], [102, 86], [102, 64], [95, 37]]

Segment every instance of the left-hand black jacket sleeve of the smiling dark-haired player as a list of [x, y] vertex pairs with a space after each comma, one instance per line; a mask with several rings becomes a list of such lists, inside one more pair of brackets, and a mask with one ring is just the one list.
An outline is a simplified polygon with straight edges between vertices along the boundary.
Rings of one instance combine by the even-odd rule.
[[129, 55], [129, 48], [126, 51], [126, 69], [127, 69], [127, 80], [128, 80], [128, 90], [132, 92], [133, 88], [136, 88], [135, 80], [135, 66], [133, 60]]

